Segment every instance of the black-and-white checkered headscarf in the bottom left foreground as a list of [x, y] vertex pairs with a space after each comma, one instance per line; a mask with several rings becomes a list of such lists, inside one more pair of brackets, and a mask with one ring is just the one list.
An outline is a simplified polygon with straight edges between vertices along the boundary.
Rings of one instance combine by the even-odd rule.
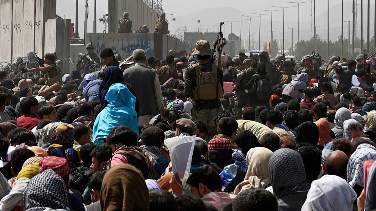
[[68, 209], [67, 185], [52, 169], [45, 170], [34, 176], [27, 185], [25, 204], [28, 211], [44, 210], [41, 207]]

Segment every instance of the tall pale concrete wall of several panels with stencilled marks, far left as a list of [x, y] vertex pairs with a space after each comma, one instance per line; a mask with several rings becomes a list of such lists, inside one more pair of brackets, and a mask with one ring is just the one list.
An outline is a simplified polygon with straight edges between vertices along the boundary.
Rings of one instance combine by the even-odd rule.
[[44, 24], [56, 16], [56, 0], [0, 0], [0, 61], [44, 54]]

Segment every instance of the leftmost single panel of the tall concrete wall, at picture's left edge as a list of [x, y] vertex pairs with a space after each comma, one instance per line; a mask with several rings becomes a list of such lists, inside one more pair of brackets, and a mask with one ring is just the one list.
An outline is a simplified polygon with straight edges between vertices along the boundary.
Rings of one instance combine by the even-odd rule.
[[12, 0], [0, 0], [0, 61], [12, 59]]

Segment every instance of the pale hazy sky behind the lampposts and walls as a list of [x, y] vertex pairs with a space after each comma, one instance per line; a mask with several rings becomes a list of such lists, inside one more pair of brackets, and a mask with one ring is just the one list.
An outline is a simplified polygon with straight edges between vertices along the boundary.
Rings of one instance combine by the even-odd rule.
[[[295, 0], [291, 0], [295, 2]], [[297, 2], [304, 2], [305, 0], [296, 0]], [[94, 1], [89, 0], [89, 19], [88, 19], [88, 32], [93, 31], [93, 6]], [[372, 1], [373, 2], [373, 1]], [[79, 32], [83, 36], [83, 21], [84, 21], [84, 0], [80, 0], [79, 8]], [[366, 38], [367, 30], [367, 1], [364, 0], [363, 17], [364, 17], [364, 38]], [[74, 23], [74, 5], [75, 0], [58, 0], [57, 11], [58, 14], [66, 18], [70, 18]], [[344, 20], [352, 19], [352, 0], [344, 0]], [[247, 19], [242, 15], [250, 15], [249, 12], [255, 13], [268, 13], [260, 11], [260, 9], [274, 10], [271, 6], [296, 6], [296, 4], [285, 3], [285, 0], [163, 0], [163, 8], [166, 13], [174, 14], [176, 21], [172, 20], [170, 15], [167, 18], [170, 22], [170, 34], [173, 34], [179, 27], [185, 26], [188, 31], [197, 31], [197, 19], [201, 21], [201, 30], [217, 31], [217, 25], [220, 21], [239, 21]], [[218, 9], [220, 8], [220, 9]], [[329, 1], [329, 20], [330, 20], [330, 39], [335, 40], [341, 35], [341, 0]], [[370, 36], [373, 36], [373, 20], [374, 11], [373, 4], [370, 6]], [[97, 18], [101, 18], [103, 14], [108, 12], [108, 1], [97, 0]], [[129, 11], [132, 12], [132, 11]], [[285, 9], [285, 38], [291, 40], [291, 30], [288, 27], [297, 27], [297, 7]], [[273, 13], [273, 31], [274, 38], [282, 38], [282, 11]], [[120, 17], [119, 17], [120, 18]], [[252, 33], [258, 36], [258, 18], [252, 19]], [[316, 0], [316, 26], [317, 33], [321, 38], [327, 37], [327, 0]], [[311, 37], [311, 3], [300, 5], [300, 37], [301, 39], [309, 39]], [[270, 15], [263, 15], [261, 20], [261, 39], [270, 39]], [[97, 32], [104, 30], [104, 25], [97, 22]], [[347, 23], [344, 24], [344, 36], [347, 38], [348, 34]], [[352, 31], [352, 29], [351, 29]], [[358, 31], [360, 31], [360, 1], [358, 0]], [[226, 24], [226, 34], [230, 32], [230, 23]], [[240, 36], [240, 22], [233, 23], [233, 33]], [[243, 21], [242, 39], [249, 35], [249, 22]], [[358, 32], [358, 36], [360, 33]], [[294, 39], [297, 37], [297, 29], [294, 29]]]

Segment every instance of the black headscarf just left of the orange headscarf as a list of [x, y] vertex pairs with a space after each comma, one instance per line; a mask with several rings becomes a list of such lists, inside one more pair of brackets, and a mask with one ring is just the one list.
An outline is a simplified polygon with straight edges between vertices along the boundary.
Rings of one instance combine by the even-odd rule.
[[303, 122], [299, 125], [299, 130], [296, 135], [297, 143], [311, 143], [317, 145], [318, 143], [318, 127], [313, 122]]

